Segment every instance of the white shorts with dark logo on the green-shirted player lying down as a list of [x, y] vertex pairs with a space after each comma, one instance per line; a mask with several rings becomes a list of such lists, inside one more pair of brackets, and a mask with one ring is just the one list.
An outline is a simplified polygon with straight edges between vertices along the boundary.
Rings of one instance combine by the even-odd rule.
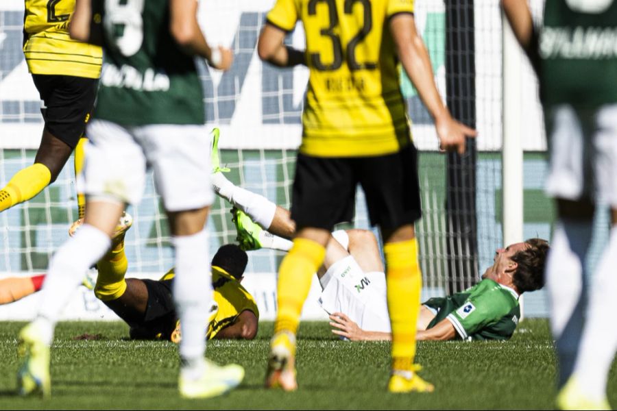
[[[340, 230], [332, 235], [347, 248], [345, 232]], [[391, 331], [385, 273], [365, 273], [348, 256], [332, 264], [319, 283], [322, 285], [319, 305], [328, 314], [342, 312], [365, 331]]]

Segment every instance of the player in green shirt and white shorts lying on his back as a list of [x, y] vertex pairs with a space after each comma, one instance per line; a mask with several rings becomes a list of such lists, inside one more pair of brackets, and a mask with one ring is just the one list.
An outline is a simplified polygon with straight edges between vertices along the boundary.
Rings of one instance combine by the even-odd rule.
[[[295, 224], [289, 211], [265, 197], [235, 186], [219, 166], [214, 134], [211, 162], [215, 192], [241, 211], [234, 212], [238, 240], [245, 250], [291, 248]], [[246, 214], [246, 215], [245, 215]], [[253, 223], [253, 221], [255, 223]], [[335, 334], [351, 340], [391, 338], [383, 262], [376, 238], [365, 230], [335, 232], [317, 273], [319, 303], [330, 313]], [[418, 339], [486, 340], [510, 338], [520, 319], [518, 296], [544, 286], [546, 240], [531, 238], [496, 250], [494, 264], [476, 286], [422, 304]]]

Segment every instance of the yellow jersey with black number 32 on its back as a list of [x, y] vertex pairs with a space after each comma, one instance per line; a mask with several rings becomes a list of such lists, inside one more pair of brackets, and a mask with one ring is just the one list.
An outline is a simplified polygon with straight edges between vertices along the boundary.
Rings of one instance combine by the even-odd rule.
[[317, 157], [395, 153], [411, 142], [388, 19], [413, 0], [277, 0], [269, 24], [306, 33], [309, 85], [300, 151]]

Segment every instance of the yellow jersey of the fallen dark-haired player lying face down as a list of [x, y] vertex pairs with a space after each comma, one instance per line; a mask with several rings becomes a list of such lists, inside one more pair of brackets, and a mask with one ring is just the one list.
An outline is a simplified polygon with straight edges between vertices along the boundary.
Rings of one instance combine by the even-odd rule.
[[208, 338], [214, 338], [221, 329], [232, 325], [245, 310], [253, 312], [259, 319], [259, 310], [253, 296], [220, 267], [212, 267], [212, 286], [219, 311], [208, 327]]

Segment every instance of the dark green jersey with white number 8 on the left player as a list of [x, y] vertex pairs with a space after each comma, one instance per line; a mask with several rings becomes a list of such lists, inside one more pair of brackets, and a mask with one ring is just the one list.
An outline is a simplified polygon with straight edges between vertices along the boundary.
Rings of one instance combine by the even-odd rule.
[[169, 0], [96, 2], [104, 64], [93, 117], [127, 126], [204, 124], [195, 59], [169, 33]]

